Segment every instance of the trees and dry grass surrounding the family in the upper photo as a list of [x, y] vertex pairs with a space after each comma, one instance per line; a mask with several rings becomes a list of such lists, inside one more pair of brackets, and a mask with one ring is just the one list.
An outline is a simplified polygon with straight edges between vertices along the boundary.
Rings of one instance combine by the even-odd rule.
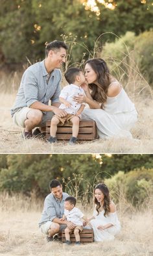
[[[152, 0], [1, 0], [0, 10], [0, 151], [1, 153], [72, 153], [69, 147], [23, 143], [12, 123], [23, 71], [45, 58], [45, 44], [64, 40], [68, 66], [84, 70], [88, 58], [106, 60], [110, 72], [135, 103], [136, 140], [99, 142], [75, 153], [153, 152], [153, 3]], [[61, 86], [65, 86], [62, 79]], [[74, 153], [74, 152], [73, 152]]]

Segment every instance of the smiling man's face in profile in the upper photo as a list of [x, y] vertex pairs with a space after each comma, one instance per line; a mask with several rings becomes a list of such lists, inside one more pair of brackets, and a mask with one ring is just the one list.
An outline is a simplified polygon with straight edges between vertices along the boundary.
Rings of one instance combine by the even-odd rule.
[[62, 47], [54, 51], [51, 50], [49, 51], [49, 57], [54, 68], [61, 68], [62, 63], [66, 61], [66, 50]]

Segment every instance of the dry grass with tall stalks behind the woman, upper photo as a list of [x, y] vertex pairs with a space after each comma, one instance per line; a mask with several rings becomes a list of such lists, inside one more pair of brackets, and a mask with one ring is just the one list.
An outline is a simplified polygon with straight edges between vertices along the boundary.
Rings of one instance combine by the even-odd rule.
[[[100, 39], [100, 38], [99, 38]], [[74, 43], [74, 42], [73, 42]], [[77, 42], [75, 42], [77, 44]], [[99, 57], [98, 41], [95, 42], [92, 57]], [[88, 49], [84, 47], [91, 56]], [[72, 51], [72, 47], [70, 48]], [[133, 140], [127, 138], [110, 138], [109, 140], [95, 140], [82, 142], [76, 146], [69, 146], [67, 142], [59, 142], [51, 145], [42, 140], [24, 140], [21, 137], [21, 129], [13, 124], [10, 117], [10, 109], [14, 103], [18, 90], [21, 72], [3, 73], [0, 81], [1, 107], [0, 107], [0, 153], [152, 153], [153, 152], [153, 90], [150, 88], [143, 75], [141, 75], [134, 53], [128, 51], [125, 45], [123, 59], [105, 57], [108, 64], [112, 64], [112, 71], [126, 92], [135, 103], [139, 114], [139, 120], [132, 129]], [[71, 55], [71, 53], [70, 53]], [[71, 59], [71, 56], [69, 56]], [[68, 59], [68, 62], [69, 62]], [[67, 63], [68, 63], [67, 62]], [[82, 64], [84, 59], [82, 58]], [[77, 64], [81, 65], [81, 64]], [[64, 81], [62, 86], [64, 86]]]

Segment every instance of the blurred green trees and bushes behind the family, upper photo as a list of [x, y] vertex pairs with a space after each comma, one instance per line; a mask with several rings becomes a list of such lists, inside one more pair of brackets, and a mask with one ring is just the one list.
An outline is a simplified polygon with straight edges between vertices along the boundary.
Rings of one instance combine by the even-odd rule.
[[14, 71], [42, 60], [55, 39], [69, 45], [67, 65], [102, 57], [117, 76], [138, 69], [152, 86], [152, 15], [152, 0], [1, 0], [1, 87], [19, 83]]

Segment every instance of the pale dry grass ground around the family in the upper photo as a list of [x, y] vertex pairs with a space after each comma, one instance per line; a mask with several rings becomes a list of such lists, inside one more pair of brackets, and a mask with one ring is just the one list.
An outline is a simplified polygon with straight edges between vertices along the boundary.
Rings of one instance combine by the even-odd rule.
[[153, 109], [151, 97], [138, 96], [135, 106], [139, 121], [132, 129], [134, 139], [127, 138], [95, 140], [69, 146], [66, 142], [51, 145], [42, 140], [23, 140], [21, 130], [14, 125], [10, 108], [16, 94], [1, 94], [0, 101], [0, 153], [152, 153], [153, 152]]

